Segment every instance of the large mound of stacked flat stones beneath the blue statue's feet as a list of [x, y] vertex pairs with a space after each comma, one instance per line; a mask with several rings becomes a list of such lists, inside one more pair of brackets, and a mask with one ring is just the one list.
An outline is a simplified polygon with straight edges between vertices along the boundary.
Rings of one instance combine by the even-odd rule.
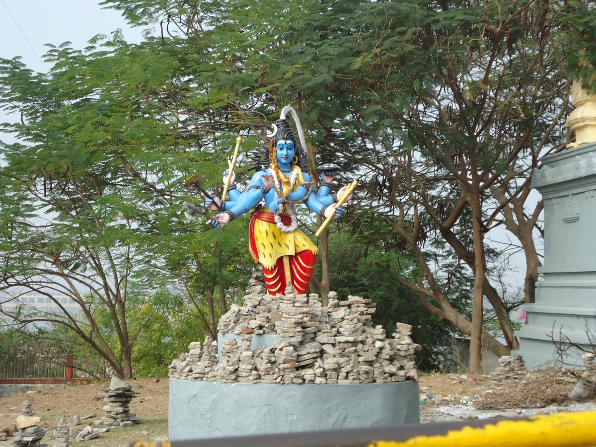
[[[206, 337], [170, 365], [170, 377], [241, 383], [352, 384], [417, 380], [411, 326], [398, 323], [392, 339], [373, 326], [375, 304], [362, 297], [339, 301], [329, 294], [323, 306], [316, 294], [266, 294], [253, 280], [244, 306], [232, 305], [219, 321], [225, 339], [218, 361], [217, 343]], [[253, 336], [276, 334], [271, 346], [252, 349]]]

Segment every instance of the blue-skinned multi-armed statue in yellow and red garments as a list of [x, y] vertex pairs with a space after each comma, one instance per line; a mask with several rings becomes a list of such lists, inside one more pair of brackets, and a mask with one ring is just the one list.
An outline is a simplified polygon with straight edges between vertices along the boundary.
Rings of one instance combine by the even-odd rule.
[[[296, 122], [300, 145], [287, 114], [291, 114]], [[296, 111], [290, 106], [284, 107], [273, 127], [273, 132], [267, 135], [271, 138], [269, 147], [254, 164], [257, 172], [242, 193], [236, 188], [233, 171], [240, 144], [238, 137], [234, 159], [230, 169], [224, 172], [225, 190], [230, 200], [225, 200], [225, 193], [223, 203], [210, 195], [206, 206], [220, 211], [210, 221], [216, 228], [222, 228], [238, 216], [254, 210], [250, 219], [249, 249], [254, 262], [263, 266], [269, 294], [284, 294], [289, 284], [293, 285], [297, 294], [303, 294], [311, 282], [318, 249], [297, 228], [294, 206], [303, 203], [324, 216], [326, 220], [316, 234], [318, 237], [328, 222], [342, 215], [341, 205], [349, 199], [357, 182], [341, 188], [337, 195], [330, 194], [331, 183], [339, 167], [325, 164], [318, 168], [322, 182], [315, 190], [311, 175], [302, 170], [306, 162], [306, 143]]]

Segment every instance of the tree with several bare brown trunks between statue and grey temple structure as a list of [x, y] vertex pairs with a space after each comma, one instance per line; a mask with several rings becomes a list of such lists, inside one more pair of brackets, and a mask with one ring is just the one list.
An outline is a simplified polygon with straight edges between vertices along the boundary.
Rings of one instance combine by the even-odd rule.
[[[334, 30], [326, 30], [327, 39], [312, 45], [322, 59], [311, 64], [314, 73], [300, 68], [320, 78], [334, 64], [342, 73], [327, 84], [344, 110], [327, 131], [343, 128], [348, 137], [334, 150], [361, 164], [370, 179], [368, 206], [393, 213], [391, 225], [417, 260], [412, 278], [399, 282], [471, 336], [471, 368], [479, 371], [481, 345], [498, 355], [517, 347], [510, 309], [488, 278], [485, 238], [496, 226], [523, 247], [526, 300], [533, 297], [539, 260], [532, 229], [542, 205], [529, 209], [527, 198], [539, 156], [565, 144], [569, 35], [568, 17], [560, 15], [571, 11], [543, 2], [421, 6], [357, 7], [340, 25], [354, 33], [330, 38]], [[355, 37], [362, 42], [358, 54], [349, 47]], [[342, 67], [323, 56], [337, 48]], [[439, 256], [462, 265], [449, 271], [443, 259], [433, 267], [436, 244], [434, 253], [423, 249], [429, 240], [442, 245]], [[461, 275], [462, 266], [474, 275], [471, 321], [455, 311], [439, 280]], [[483, 297], [495, 309], [505, 346], [482, 329]]]

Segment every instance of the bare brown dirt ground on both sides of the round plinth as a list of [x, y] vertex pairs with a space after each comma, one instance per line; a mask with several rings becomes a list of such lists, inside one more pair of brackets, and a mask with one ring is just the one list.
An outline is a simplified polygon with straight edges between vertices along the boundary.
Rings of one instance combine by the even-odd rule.
[[[97, 416], [83, 421], [78, 428], [100, 420], [104, 414], [102, 390], [109, 385], [101, 383], [78, 386], [44, 387], [21, 395], [0, 399], [0, 431], [14, 423], [20, 414], [23, 401], [32, 403], [33, 412], [41, 417], [41, 425], [46, 432], [54, 429], [61, 418], [66, 418], [69, 426], [73, 416]], [[136, 440], [167, 439], [167, 405], [169, 380], [142, 379], [128, 383], [139, 395], [130, 404], [143, 422], [141, 425], [126, 428], [113, 428], [101, 433], [97, 439], [85, 444], [97, 447], [128, 446]], [[458, 374], [420, 375], [420, 418], [421, 422], [461, 420], [465, 418], [511, 417], [532, 414], [529, 411], [552, 412], [570, 409], [596, 409], [594, 393], [574, 402], [569, 393], [576, 387], [577, 379], [569, 371], [542, 371], [530, 373], [523, 380], [510, 383], [494, 383], [489, 377], [473, 377]], [[591, 390], [586, 390], [589, 393]], [[581, 405], [581, 406], [578, 406]], [[574, 406], [578, 406], [574, 408]], [[0, 447], [13, 446], [0, 440]], [[50, 439], [46, 434], [45, 443]]]

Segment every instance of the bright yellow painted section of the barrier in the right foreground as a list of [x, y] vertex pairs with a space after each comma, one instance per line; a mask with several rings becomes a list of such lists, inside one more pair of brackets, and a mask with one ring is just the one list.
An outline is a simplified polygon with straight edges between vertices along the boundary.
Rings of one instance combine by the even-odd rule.
[[527, 420], [488, 421], [445, 435], [415, 436], [403, 442], [378, 441], [369, 447], [583, 447], [596, 446], [596, 411], [537, 415]]

